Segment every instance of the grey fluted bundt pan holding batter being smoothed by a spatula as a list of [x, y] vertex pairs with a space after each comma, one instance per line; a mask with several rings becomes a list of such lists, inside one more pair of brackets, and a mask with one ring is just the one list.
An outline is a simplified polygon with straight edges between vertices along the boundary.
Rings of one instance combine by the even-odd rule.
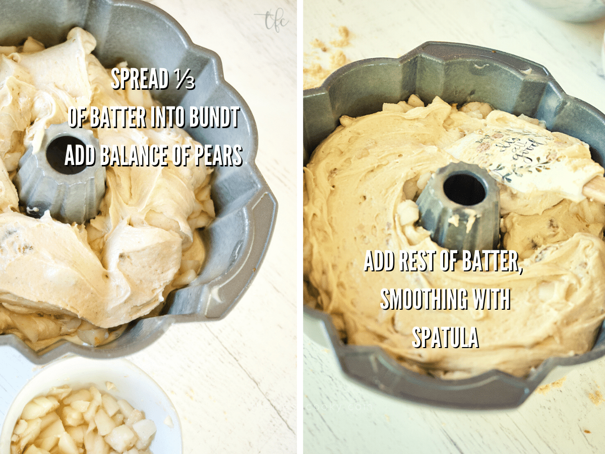
[[[605, 116], [568, 96], [545, 67], [526, 59], [467, 44], [426, 42], [399, 59], [375, 58], [348, 64], [303, 95], [304, 163], [346, 114], [382, 110], [417, 94], [425, 103], [439, 96], [448, 103], [488, 102], [494, 108], [536, 117], [551, 131], [590, 145], [592, 158], [605, 162]], [[604, 302], [605, 304], [605, 302]], [[583, 355], [548, 358], [526, 378], [490, 370], [464, 380], [441, 380], [405, 369], [378, 346], [342, 343], [330, 315], [304, 308], [304, 332], [329, 347], [345, 376], [394, 398], [457, 409], [520, 406], [540, 384], [605, 355], [605, 327]]]

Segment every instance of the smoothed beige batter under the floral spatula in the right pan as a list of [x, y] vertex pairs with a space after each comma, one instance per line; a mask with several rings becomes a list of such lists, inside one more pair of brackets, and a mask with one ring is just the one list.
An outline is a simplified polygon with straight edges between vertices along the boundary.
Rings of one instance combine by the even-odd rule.
[[[480, 103], [456, 110], [439, 98], [424, 107], [412, 96], [378, 113], [342, 117], [313, 153], [304, 169], [306, 302], [332, 314], [347, 343], [379, 345], [405, 366], [443, 378], [489, 369], [523, 376], [548, 357], [582, 354], [594, 344], [605, 318], [605, 208], [586, 199], [499, 183], [500, 247], [518, 252], [522, 274], [437, 265], [433, 272], [364, 271], [368, 250], [396, 258], [401, 250], [436, 250], [439, 257], [442, 248], [417, 226], [414, 200], [436, 169], [455, 161], [444, 150], [494, 122], [536, 128], [535, 120], [490, 111]], [[594, 176], [598, 165], [586, 145], [542, 131], [560, 156], [586, 163], [587, 180]], [[383, 310], [383, 288], [466, 289], [468, 309]], [[510, 309], [475, 309], [474, 288], [510, 289]], [[441, 348], [431, 340], [414, 348], [414, 327], [464, 327], [466, 344], [474, 327], [479, 348], [445, 348], [443, 334]]]

